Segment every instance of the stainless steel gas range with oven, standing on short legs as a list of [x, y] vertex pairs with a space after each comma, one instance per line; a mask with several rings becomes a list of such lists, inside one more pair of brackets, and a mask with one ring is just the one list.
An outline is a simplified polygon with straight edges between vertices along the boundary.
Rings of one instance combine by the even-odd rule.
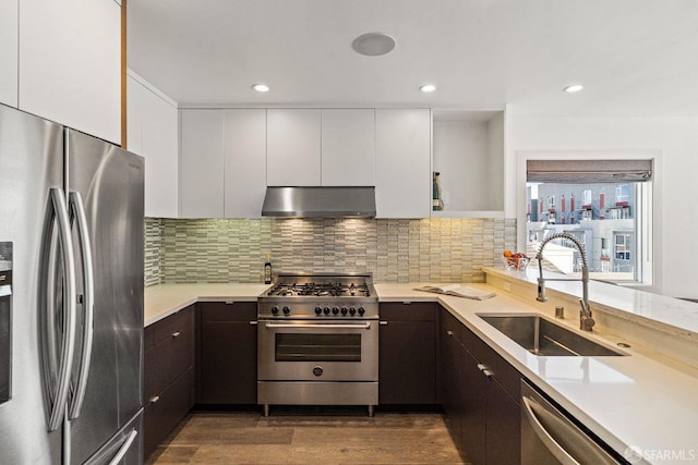
[[371, 274], [278, 274], [257, 299], [257, 402], [378, 403], [378, 297]]

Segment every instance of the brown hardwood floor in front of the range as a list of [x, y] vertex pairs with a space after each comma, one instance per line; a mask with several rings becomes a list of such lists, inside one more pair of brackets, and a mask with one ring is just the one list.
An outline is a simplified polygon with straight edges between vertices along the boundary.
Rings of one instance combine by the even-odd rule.
[[438, 413], [273, 407], [190, 413], [146, 464], [462, 464]]

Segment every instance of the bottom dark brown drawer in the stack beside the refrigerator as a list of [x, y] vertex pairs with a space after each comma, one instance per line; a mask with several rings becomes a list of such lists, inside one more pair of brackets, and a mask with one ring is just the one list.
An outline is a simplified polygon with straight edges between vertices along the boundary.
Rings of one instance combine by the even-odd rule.
[[146, 397], [145, 402], [143, 455], [147, 457], [194, 405], [193, 369], [182, 374], [157, 401]]

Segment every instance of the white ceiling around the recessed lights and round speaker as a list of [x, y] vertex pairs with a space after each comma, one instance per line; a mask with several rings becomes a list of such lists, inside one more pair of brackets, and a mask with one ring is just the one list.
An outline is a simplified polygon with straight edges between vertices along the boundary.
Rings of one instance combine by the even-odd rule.
[[[181, 106], [698, 117], [697, 0], [129, 0], [128, 14], [129, 68]], [[356, 53], [368, 32], [397, 47]]]

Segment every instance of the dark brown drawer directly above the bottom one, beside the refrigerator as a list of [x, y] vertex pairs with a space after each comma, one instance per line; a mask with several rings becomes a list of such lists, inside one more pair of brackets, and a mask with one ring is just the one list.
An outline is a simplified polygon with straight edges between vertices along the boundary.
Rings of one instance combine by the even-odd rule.
[[194, 365], [194, 326], [171, 326], [168, 331], [172, 332], [167, 339], [145, 353], [146, 400], [157, 395]]

